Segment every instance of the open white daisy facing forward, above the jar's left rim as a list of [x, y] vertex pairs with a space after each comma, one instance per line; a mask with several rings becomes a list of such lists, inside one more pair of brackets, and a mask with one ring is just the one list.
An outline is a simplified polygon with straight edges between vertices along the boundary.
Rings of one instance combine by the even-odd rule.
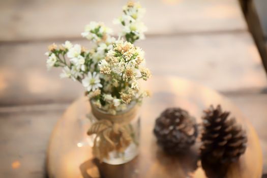
[[82, 80], [82, 85], [86, 88], [88, 92], [95, 91], [99, 87], [102, 87], [102, 84], [100, 83], [99, 74], [96, 72], [93, 72], [93, 75], [91, 72], [88, 72], [87, 76], [84, 77]]

